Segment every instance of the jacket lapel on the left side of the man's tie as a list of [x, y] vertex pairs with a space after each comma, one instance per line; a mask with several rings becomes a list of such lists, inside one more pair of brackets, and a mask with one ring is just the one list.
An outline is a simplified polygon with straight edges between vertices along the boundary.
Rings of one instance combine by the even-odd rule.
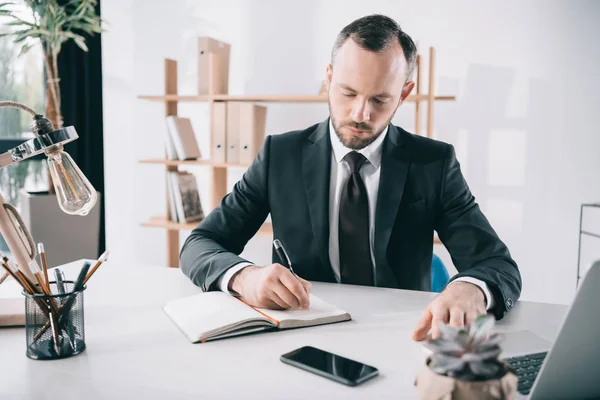
[[313, 236], [328, 280], [335, 282], [329, 261], [329, 180], [331, 142], [329, 119], [320, 123], [302, 149], [302, 175]]

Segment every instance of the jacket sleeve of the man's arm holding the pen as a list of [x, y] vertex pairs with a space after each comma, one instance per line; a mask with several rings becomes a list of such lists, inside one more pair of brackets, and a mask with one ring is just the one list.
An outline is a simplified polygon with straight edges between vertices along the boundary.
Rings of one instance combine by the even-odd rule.
[[269, 214], [267, 136], [252, 165], [217, 206], [185, 240], [180, 252], [181, 270], [203, 291], [217, 290], [219, 277], [240, 262], [248, 241]]

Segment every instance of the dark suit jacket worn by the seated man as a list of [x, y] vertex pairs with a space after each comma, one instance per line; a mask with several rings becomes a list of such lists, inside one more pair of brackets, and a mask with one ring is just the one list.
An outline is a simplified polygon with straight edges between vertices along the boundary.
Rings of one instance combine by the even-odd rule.
[[[434, 230], [459, 274], [486, 282], [502, 318], [518, 299], [521, 276], [479, 209], [454, 148], [389, 126], [382, 148], [375, 216], [375, 286], [431, 290]], [[192, 231], [181, 250], [183, 272], [204, 291], [271, 213], [273, 234], [295, 272], [335, 282], [329, 262], [329, 120], [303, 131], [268, 136], [233, 191]], [[273, 262], [281, 262], [273, 252]]]

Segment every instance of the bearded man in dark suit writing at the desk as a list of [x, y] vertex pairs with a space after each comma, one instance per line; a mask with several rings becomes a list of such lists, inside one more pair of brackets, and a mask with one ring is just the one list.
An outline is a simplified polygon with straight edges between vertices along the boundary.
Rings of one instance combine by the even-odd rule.
[[[269, 136], [221, 204], [181, 250], [183, 272], [268, 308], [307, 307], [308, 281], [431, 290], [434, 231], [459, 271], [423, 313], [413, 338], [437, 321], [463, 327], [497, 318], [520, 295], [516, 263], [475, 202], [454, 149], [390, 124], [413, 90], [412, 39], [371, 15], [338, 35], [327, 67], [330, 118]], [[275, 253], [255, 266], [238, 256], [271, 214]], [[302, 277], [302, 278], [300, 278]]]

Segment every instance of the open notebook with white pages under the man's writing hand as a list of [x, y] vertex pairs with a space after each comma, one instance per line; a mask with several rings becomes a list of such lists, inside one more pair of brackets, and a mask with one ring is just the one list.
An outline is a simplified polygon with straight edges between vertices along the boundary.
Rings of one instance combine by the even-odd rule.
[[168, 302], [163, 310], [193, 343], [266, 329], [288, 329], [348, 321], [350, 314], [310, 295], [308, 309], [252, 307], [224, 292], [199, 293]]

